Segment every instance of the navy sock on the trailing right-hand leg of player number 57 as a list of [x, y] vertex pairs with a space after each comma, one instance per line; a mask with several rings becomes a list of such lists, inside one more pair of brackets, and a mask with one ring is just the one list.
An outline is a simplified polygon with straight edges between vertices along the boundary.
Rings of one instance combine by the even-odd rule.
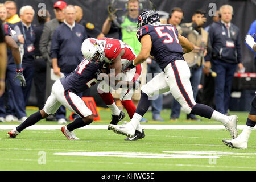
[[214, 109], [204, 104], [196, 104], [192, 107], [190, 114], [200, 115], [201, 117], [211, 119]]

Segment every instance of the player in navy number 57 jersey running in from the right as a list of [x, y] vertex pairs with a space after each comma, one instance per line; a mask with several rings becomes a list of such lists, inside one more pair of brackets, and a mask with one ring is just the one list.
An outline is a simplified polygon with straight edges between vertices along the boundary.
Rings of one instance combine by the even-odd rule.
[[180, 103], [186, 114], [197, 114], [217, 120], [224, 124], [232, 139], [236, 138], [236, 115], [228, 117], [207, 105], [197, 104], [194, 100], [189, 81], [189, 67], [183, 57], [183, 53], [193, 50], [193, 44], [179, 35], [177, 29], [171, 24], [160, 24], [158, 13], [153, 10], [145, 10], [139, 15], [137, 27], [137, 38], [142, 45], [141, 52], [132, 62], [127, 63], [122, 71], [143, 63], [151, 55], [155, 57], [156, 63], [163, 72], [142, 86], [141, 100], [131, 121], [126, 125], [110, 125], [110, 129], [130, 137], [129, 140], [144, 137], [139, 121], [150, 106], [148, 97], [171, 91], [172, 96]]

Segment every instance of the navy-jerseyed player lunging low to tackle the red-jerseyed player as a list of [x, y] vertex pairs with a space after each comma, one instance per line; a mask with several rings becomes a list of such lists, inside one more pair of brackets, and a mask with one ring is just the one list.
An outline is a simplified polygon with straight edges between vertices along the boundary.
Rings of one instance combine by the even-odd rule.
[[[93, 121], [92, 111], [86, 107], [85, 102], [77, 96], [77, 93], [95, 85], [99, 73], [108, 73], [109, 67], [106, 63], [93, 64], [84, 59], [69, 75], [55, 81], [52, 86], [51, 95], [48, 97], [44, 108], [28, 117], [23, 123], [13, 130], [9, 131], [10, 138], [15, 138], [22, 130], [28, 126], [34, 125], [41, 119], [48, 117], [64, 105], [73, 113], [79, 115], [72, 123], [61, 127], [61, 131], [69, 140], [79, 140], [73, 133], [74, 129], [89, 125]], [[126, 82], [126, 84], [135, 86], [135, 82]], [[109, 93], [111, 94], [111, 93]]]

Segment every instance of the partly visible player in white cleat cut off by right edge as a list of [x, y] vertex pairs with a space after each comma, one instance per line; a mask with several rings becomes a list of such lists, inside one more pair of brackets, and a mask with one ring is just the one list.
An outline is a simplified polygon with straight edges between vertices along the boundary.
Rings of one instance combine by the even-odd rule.
[[[251, 36], [247, 34], [245, 37], [245, 42], [256, 52], [256, 43], [255, 43], [255, 34]], [[243, 131], [236, 139], [233, 140], [222, 140], [227, 146], [232, 148], [246, 149], [248, 145], [248, 139], [250, 137], [251, 131], [253, 131], [254, 126], [256, 125], [256, 95], [254, 96], [253, 101], [251, 102], [251, 110], [247, 117], [247, 122]]]

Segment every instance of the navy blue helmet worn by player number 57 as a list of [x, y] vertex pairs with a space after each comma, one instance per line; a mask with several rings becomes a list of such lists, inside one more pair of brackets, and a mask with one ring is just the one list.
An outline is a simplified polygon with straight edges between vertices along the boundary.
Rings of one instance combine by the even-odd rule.
[[145, 24], [152, 24], [155, 22], [160, 22], [158, 13], [154, 10], [144, 10], [138, 18], [137, 28], [141, 28]]

